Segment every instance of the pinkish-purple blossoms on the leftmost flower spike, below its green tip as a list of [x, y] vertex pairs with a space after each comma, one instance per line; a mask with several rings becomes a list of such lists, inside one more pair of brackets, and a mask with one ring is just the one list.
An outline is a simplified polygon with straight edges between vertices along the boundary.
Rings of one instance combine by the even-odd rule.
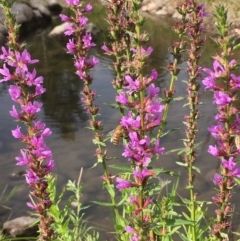
[[54, 161], [52, 152], [44, 141], [51, 135], [51, 131], [41, 120], [37, 120], [37, 113], [40, 112], [42, 104], [36, 98], [45, 92], [43, 77], [37, 77], [35, 69], [32, 72], [29, 70], [28, 66], [38, 60], [31, 59], [26, 49], [19, 52], [2, 47], [0, 59], [4, 61], [3, 68], [0, 69], [3, 76], [0, 82], [13, 82], [9, 86], [9, 94], [20, 106], [17, 108], [13, 105], [10, 115], [27, 127], [26, 134], [21, 132], [20, 126], [12, 131], [15, 138], [26, 144], [26, 148], [20, 150], [21, 156], [16, 157], [17, 165], [27, 166], [26, 182], [32, 189], [31, 194], [38, 199], [27, 204], [40, 216], [42, 240], [49, 240], [54, 235], [50, 228], [51, 217], [47, 216], [52, 202], [49, 199], [45, 177], [53, 169]]

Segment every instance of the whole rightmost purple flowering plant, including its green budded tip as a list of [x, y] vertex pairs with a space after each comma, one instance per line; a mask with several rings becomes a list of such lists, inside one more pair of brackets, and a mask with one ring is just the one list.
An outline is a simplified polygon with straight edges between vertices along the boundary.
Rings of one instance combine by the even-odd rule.
[[240, 178], [237, 157], [240, 152], [240, 118], [236, 106], [240, 89], [240, 76], [235, 74], [239, 62], [232, 58], [233, 51], [239, 48], [235, 38], [228, 34], [227, 10], [224, 5], [216, 7], [218, 37], [215, 39], [221, 53], [213, 59], [213, 70], [204, 68], [207, 76], [203, 79], [205, 90], [213, 91], [213, 104], [217, 106], [216, 123], [208, 128], [216, 144], [210, 145], [208, 152], [219, 158], [220, 169], [214, 174], [213, 183], [216, 194], [212, 197], [217, 206], [213, 219], [210, 240], [229, 240], [228, 233], [232, 227], [233, 195], [236, 181]]

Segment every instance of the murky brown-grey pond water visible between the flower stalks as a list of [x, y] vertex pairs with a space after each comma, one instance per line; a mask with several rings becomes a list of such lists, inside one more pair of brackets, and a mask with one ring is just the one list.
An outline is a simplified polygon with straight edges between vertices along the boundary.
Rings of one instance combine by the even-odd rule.
[[[90, 19], [98, 27], [105, 29], [105, 12], [104, 7], [97, 5]], [[158, 85], [162, 88], [167, 88], [169, 85], [169, 75], [165, 67], [171, 56], [168, 53], [168, 48], [174, 41], [168, 24], [163, 24], [163, 20], [148, 19], [145, 25], [150, 33], [149, 45], [153, 46], [154, 52], [151, 56], [150, 69], [155, 68], [159, 72]], [[47, 143], [54, 154], [55, 169], [54, 174], [58, 179], [59, 190], [64, 187], [68, 179], [75, 180], [78, 178], [79, 171], [83, 167], [83, 203], [89, 204], [90, 201], [107, 200], [107, 193], [102, 188], [101, 175], [103, 170], [101, 166], [90, 169], [96, 159], [94, 157], [95, 146], [92, 145], [92, 132], [86, 127], [88, 126], [88, 116], [85, 113], [80, 101], [80, 91], [83, 87], [81, 81], [74, 74], [72, 57], [67, 55], [64, 49], [53, 39], [50, 39], [47, 34], [50, 31], [45, 30], [39, 34], [28, 38], [28, 49], [32, 53], [33, 58], [40, 59], [36, 65], [38, 75], [44, 76], [44, 85], [47, 92], [42, 96], [43, 109], [39, 117], [51, 128], [53, 134], [48, 138]], [[96, 90], [98, 98], [96, 103], [101, 109], [101, 120], [105, 125], [104, 133], [116, 127], [120, 116], [118, 112], [103, 103], [113, 103], [115, 91], [111, 86], [111, 81], [114, 78], [111, 66], [112, 60], [104, 55], [101, 50], [101, 44], [106, 36], [99, 39], [97, 47], [92, 50], [92, 54], [99, 60], [99, 65], [92, 71], [94, 78], [93, 89]], [[210, 66], [210, 56], [216, 50], [213, 42], [206, 42], [204, 56], [202, 62], [204, 66]], [[182, 64], [182, 72], [176, 83], [177, 95], [185, 95], [186, 84], [182, 80], [187, 78], [185, 67], [186, 63]], [[202, 87], [200, 90], [201, 100], [203, 105], [199, 107], [201, 111], [201, 119], [199, 120], [199, 141], [202, 141], [198, 149], [198, 159], [196, 166], [201, 169], [202, 175], [196, 177], [196, 192], [199, 200], [211, 200], [213, 195], [212, 178], [214, 172], [218, 169], [218, 160], [207, 153], [209, 144], [214, 143], [214, 140], [209, 135], [207, 127], [214, 123], [214, 115], [216, 108], [212, 104], [212, 94], [204, 92]], [[183, 116], [187, 113], [187, 109], [182, 107], [183, 102], [174, 102], [171, 105], [167, 129], [179, 128], [171, 132], [168, 136], [162, 139], [161, 144], [166, 148], [166, 152], [174, 148], [182, 147], [181, 139], [184, 137], [184, 126], [182, 124]], [[29, 209], [26, 202], [29, 200], [29, 190], [25, 185], [25, 180], [12, 178], [13, 172], [18, 172], [23, 169], [17, 167], [15, 157], [19, 155], [19, 149], [23, 146], [18, 140], [11, 135], [11, 130], [14, 129], [17, 123], [9, 115], [9, 110], [13, 105], [8, 94], [8, 84], [3, 83], [0, 86], [0, 190], [3, 190], [6, 184], [9, 185], [9, 190], [13, 187], [18, 187], [16, 195], [8, 202], [12, 208], [13, 217], [26, 215]], [[126, 163], [126, 160], [121, 157], [122, 147], [114, 147], [109, 144], [109, 155], [119, 157], [114, 163]], [[156, 164], [158, 167], [180, 172], [179, 194], [188, 196], [185, 190], [186, 172], [180, 168], [175, 162], [178, 161], [176, 154], [166, 154], [160, 157]], [[168, 178], [168, 177], [165, 177]], [[235, 203], [240, 202], [239, 188], [235, 190], [236, 194], [233, 197]], [[211, 207], [211, 209], [214, 209]], [[236, 207], [236, 215], [234, 220], [239, 220], [240, 208]], [[86, 216], [90, 217], [90, 224], [103, 228], [107, 232], [112, 232], [111, 216], [109, 210], [104, 207], [92, 205], [86, 211]], [[234, 229], [238, 228], [238, 222], [234, 222]], [[111, 237], [110, 234], [103, 233], [103, 237]], [[103, 239], [105, 240], [105, 239]]]

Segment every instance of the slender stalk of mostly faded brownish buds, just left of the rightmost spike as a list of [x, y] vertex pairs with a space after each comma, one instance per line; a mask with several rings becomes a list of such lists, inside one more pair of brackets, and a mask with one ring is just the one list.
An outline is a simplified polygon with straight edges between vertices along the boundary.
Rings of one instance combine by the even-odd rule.
[[[189, 190], [189, 200], [182, 199], [184, 205], [187, 207], [189, 214], [185, 213], [185, 218], [192, 222], [191, 229], [184, 226], [186, 236], [193, 241], [199, 240], [202, 237], [202, 229], [200, 228], [202, 222], [202, 202], [197, 202], [197, 196], [194, 192], [195, 171], [200, 172], [194, 165], [196, 161], [196, 146], [198, 127], [197, 121], [200, 113], [197, 109], [199, 105], [200, 77], [201, 67], [199, 60], [204, 43], [204, 27], [203, 19], [208, 16], [203, 4], [198, 5], [195, 1], [185, 1], [177, 7], [179, 13], [183, 16], [182, 25], [180, 29], [184, 29], [183, 35], [186, 38], [186, 54], [187, 54], [187, 73], [188, 79], [184, 81], [187, 83], [187, 103], [189, 114], [184, 116], [185, 139], [184, 155], [182, 162], [177, 162], [180, 166], [184, 166], [188, 174], [188, 184], [186, 189]], [[180, 236], [184, 236], [180, 234]]]

